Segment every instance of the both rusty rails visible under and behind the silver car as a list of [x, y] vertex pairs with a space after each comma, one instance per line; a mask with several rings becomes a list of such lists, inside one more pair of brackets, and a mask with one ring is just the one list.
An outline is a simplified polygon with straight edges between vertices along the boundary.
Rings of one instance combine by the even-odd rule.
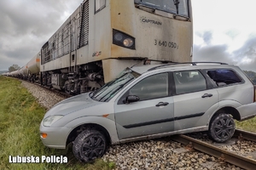
[[[256, 133], [249, 133], [246, 131], [236, 129], [234, 137], [238, 139], [247, 139], [251, 141], [256, 141]], [[188, 135], [175, 135], [172, 140], [177, 141], [181, 144], [187, 145], [190, 149], [199, 150], [210, 156], [215, 156], [221, 161], [229, 162], [237, 167], [241, 167], [248, 170], [256, 169], [256, 160], [253, 160], [247, 156], [241, 156], [234, 152], [224, 150], [215, 146], [214, 144], [208, 144], [207, 142], [201, 141], [200, 139], [195, 139], [189, 137]]]

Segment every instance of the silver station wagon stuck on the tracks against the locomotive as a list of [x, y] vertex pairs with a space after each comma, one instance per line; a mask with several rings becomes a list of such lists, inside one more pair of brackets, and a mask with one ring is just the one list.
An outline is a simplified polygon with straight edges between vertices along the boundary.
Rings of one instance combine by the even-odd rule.
[[183, 63], [125, 69], [95, 92], [65, 99], [41, 122], [44, 145], [73, 143], [80, 161], [102, 156], [110, 144], [207, 131], [217, 142], [235, 122], [256, 115], [253, 83], [235, 65]]

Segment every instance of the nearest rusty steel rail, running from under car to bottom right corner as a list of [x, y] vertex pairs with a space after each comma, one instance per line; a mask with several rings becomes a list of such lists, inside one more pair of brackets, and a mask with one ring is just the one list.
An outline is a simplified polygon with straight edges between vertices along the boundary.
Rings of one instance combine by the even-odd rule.
[[212, 144], [207, 144], [206, 142], [202, 142], [201, 140], [193, 139], [183, 134], [172, 136], [171, 139], [174, 141], [177, 141], [178, 143], [188, 145], [189, 147], [192, 147], [193, 149], [199, 150], [210, 156], [218, 157], [219, 159], [223, 161], [227, 161], [238, 167], [245, 168], [248, 170], [256, 169], [255, 160], [244, 157], [244, 156], [239, 156], [227, 150], [221, 150], [220, 148]]

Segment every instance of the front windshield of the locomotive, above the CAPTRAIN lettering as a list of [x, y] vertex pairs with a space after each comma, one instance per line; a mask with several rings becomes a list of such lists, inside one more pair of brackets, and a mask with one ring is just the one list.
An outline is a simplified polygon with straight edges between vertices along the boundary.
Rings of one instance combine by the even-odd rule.
[[189, 17], [189, 0], [134, 0], [134, 2], [167, 13]]

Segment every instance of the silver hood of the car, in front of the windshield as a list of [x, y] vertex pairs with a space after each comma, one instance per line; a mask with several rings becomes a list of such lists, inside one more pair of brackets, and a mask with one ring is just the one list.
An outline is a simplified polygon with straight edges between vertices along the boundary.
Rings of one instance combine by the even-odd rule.
[[69, 99], [64, 99], [60, 103], [53, 106], [44, 117], [53, 115], [67, 115], [75, 111], [83, 110], [95, 105], [102, 105], [103, 102], [90, 99], [90, 93], [80, 94]]

